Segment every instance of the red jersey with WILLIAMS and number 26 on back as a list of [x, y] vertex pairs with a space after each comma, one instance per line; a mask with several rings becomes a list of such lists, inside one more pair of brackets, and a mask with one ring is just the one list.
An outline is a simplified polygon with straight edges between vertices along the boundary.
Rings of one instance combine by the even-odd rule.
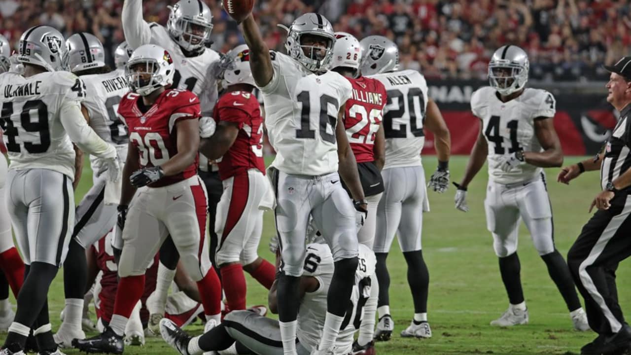
[[386, 106], [386, 87], [376, 79], [347, 78], [353, 95], [346, 101], [344, 128], [358, 163], [375, 160], [373, 147]]

